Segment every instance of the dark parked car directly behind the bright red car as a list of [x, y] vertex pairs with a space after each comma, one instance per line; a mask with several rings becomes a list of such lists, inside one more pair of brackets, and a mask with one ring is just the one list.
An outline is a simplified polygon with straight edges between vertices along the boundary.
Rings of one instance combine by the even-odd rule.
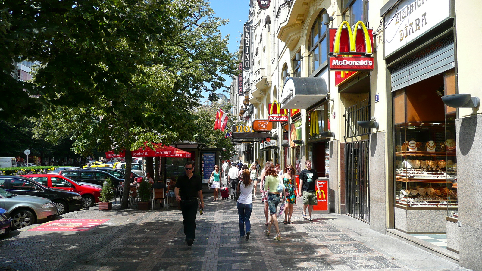
[[110, 178], [114, 186], [121, 185], [124, 182], [123, 178], [118, 178], [108, 172], [95, 169], [66, 169], [61, 170], [59, 175], [66, 176], [75, 181], [82, 181], [84, 183], [92, 183], [102, 186], [106, 178]]

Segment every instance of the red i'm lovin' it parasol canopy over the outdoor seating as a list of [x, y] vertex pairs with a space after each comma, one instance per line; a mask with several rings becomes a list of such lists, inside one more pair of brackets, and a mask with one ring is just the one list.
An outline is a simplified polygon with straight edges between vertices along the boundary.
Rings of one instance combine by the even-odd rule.
[[[182, 149], [177, 149], [173, 146], [164, 146], [161, 143], [152, 143], [154, 149], [144, 147], [131, 151], [133, 157], [179, 157], [179, 158], [189, 158], [191, 153]], [[106, 152], [106, 158], [120, 158], [125, 157], [124, 151], [116, 154], [113, 150]]]

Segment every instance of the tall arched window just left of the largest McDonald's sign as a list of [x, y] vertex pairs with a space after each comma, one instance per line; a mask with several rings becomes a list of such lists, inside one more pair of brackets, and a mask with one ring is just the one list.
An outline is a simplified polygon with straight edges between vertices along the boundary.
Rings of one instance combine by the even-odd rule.
[[328, 41], [327, 41], [327, 32], [328, 27], [323, 25], [322, 22], [322, 15], [325, 14], [326, 11], [323, 10], [318, 14], [313, 26], [311, 27], [311, 31], [309, 34], [309, 41], [308, 41], [308, 59], [309, 59], [309, 74], [313, 73], [316, 69], [320, 68], [321, 65], [324, 65], [328, 57]]

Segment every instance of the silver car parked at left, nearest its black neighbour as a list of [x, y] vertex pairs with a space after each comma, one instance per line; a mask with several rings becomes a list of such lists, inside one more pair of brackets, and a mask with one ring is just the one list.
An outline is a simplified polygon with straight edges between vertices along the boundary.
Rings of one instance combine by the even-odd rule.
[[35, 196], [16, 195], [1, 188], [0, 208], [7, 210], [12, 217], [13, 230], [22, 229], [57, 216], [57, 207], [51, 200]]

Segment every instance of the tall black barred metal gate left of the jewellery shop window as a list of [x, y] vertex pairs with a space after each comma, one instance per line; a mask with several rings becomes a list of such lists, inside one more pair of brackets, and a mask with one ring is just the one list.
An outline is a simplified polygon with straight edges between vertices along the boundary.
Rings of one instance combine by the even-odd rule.
[[370, 223], [368, 139], [345, 144], [347, 214]]

